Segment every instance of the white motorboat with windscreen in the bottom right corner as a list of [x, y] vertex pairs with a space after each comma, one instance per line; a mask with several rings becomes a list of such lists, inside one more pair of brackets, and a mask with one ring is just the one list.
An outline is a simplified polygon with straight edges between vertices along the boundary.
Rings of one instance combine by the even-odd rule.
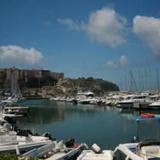
[[159, 160], [160, 142], [145, 141], [140, 143], [120, 144], [114, 150], [115, 160]]

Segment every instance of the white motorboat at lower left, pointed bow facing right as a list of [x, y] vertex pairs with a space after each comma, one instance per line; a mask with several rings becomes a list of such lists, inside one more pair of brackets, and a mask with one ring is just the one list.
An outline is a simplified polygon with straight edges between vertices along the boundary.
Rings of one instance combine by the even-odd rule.
[[0, 153], [22, 154], [28, 150], [50, 143], [51, 140], [44, 136], [19, 136], [15, 131], [7, 128], [0, 130]]

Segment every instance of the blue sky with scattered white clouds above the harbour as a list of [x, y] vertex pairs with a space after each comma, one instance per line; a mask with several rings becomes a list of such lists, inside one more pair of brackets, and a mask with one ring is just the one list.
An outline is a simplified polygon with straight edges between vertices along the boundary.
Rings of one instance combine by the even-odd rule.
[[159, 87], [159, 0], [0, 0], [0, 67]]

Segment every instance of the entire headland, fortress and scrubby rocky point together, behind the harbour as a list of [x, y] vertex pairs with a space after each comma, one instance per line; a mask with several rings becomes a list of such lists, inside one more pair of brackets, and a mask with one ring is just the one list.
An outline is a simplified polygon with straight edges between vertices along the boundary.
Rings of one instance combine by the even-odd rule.
[[75, 96], [77, 92], [92, 91], [95, 95], [103, 95], [108, 91], [118, 91], [119, 87], [103, 79], [65, 78], [64, 73], [42, 69], [0, 69], [0, 92], [22, 96]]

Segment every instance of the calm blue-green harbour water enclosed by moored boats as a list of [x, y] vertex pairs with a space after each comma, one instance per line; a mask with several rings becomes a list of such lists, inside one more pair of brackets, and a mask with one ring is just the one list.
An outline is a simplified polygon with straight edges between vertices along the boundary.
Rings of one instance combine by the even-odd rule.
[[58, 140], [73, 137], [77, 142], [88, 145], [96, 142], [102, 148], [113, 149], [119, 143], [131, 142], [137, 134], [142, 139], [160, 137], [159, 122], [147, 121], [138, 125], [130, 120], [131, 112], [65, 102], [30, 100], [27, 104], [30, 113], [17, 122], [18, 126], [41, 134], [49, 132]]

